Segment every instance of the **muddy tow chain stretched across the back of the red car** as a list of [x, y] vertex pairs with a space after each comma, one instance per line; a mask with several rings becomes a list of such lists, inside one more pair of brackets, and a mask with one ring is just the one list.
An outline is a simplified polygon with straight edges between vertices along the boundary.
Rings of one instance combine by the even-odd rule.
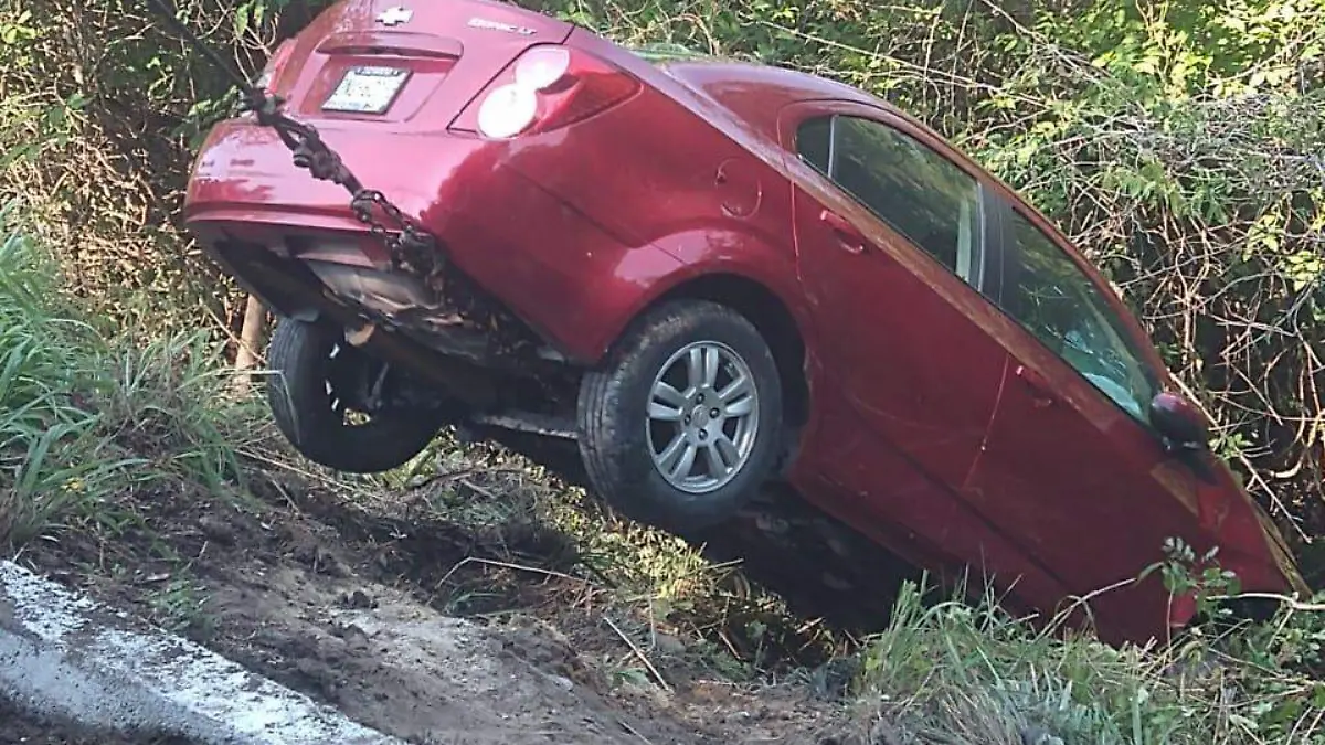
[[[276, 130], [281, 142], [290, 148], [295, 167], [305, 168], [317, 180], [331, 182], [350, 192], [350, 209], [355, 219], [367, 225], [368, 232], [382, 241], [396, 269], [421, 277], [429, 286], [437, 286], [444, 265], [440, 258], [441, 253], [437, 251], [436, 236], [407, 217], [380, 191], [364, 188], [341, 159], [341, 155], [323, 142], [317, 127], [286, 115], [281, 110], [285, 105], [284, 98], [244, 80], [216, 50], [175, 16], [166, 0], [148, 0], [148, 3], [189, 46], [207, 57], [213, 66], [237, 85], [241, 94], [240, 111], [252, 111], [260, 125]], [[394, 227], [379, 219], [378, 212]]]

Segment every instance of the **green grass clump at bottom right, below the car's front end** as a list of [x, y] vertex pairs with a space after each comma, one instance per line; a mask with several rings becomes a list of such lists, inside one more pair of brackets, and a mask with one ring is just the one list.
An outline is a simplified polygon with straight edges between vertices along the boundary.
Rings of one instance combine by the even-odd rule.
[[904, 590], [857, 679], [877, 741], [1325, 741], [1325, 683], [1309, 672], [1325, 640], [1318, 614], [1285, 607], [1265, 624], [1142, 650], [1032, 630], [992, 601], [925, 607], [914, 586]]

